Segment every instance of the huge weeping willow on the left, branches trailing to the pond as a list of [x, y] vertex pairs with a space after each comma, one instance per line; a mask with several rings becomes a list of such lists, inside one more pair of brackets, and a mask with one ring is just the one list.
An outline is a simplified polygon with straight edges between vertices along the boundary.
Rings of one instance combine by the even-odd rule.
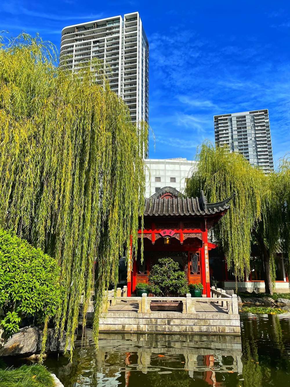
[[103, 291], [124, 247], [130, 259], [130, 236], [137, 248], [147, 126], [131, 122], [101, 70], [101, 84], [90, 69], [62, 70], [38, 36], [1, 42], [0, 226], [58, 260], [66, 292], [55, 324], [67, 344], [82, 294], [85, 316], [95, 291], [97, 342]]

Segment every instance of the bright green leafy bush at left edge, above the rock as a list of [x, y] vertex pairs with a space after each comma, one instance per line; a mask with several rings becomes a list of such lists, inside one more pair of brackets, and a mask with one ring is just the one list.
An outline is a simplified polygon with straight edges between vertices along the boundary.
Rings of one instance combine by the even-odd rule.
[[47, 326], [62, 301], [59, 274], [55, 259], [0, 228], [0, 328], [8, 336], [25, 317]]

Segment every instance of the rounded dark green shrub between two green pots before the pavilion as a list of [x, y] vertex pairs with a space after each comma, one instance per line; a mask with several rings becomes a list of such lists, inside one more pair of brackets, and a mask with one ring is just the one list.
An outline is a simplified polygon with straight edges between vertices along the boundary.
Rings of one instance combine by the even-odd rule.
[[187, 293], [186, 274], [172, 258], [160, 258], [152, 267], [149, 277], [149, 291], [156, 296], [178, 296]]

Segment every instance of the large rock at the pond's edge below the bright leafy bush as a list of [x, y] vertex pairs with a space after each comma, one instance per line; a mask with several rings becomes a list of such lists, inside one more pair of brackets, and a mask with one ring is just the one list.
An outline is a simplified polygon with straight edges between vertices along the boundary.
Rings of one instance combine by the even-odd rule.
[[[25, 327], [15, 333], [6, 344], [0, 348], [0, 356], [38, 354], [41, 351], [43, 330], [39, 327]], [[67, 348], [70, 350], [70, 347]], [[46, 340], [46, 352], [64, 352], [65, 334], [61, 339], [55, 337], [55, 329], [49, 328]]]

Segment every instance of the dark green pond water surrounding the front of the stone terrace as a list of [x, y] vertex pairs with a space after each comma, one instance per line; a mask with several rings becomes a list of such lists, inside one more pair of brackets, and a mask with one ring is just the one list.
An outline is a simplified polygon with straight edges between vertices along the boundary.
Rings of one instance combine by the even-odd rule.
[[288, 387], [290, 315], [241, 314], [241, 337], [100, 334], [78, 337], [73, 361], [44, 362], [65, 387]]

